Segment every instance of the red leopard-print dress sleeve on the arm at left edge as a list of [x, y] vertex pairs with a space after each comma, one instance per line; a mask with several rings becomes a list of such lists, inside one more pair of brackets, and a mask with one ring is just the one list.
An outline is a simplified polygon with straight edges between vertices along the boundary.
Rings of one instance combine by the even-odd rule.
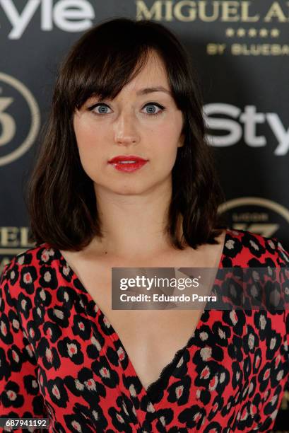
[[[17, 299], [11, 296], [16, 289], [11, 284], [12, 262], [0, 276], [0, 417], [48, 418], [33, 348], [21, 325]], [[0, 427], [0, 432], [6, 431]], [[23, 429], [13, 429], [13, 432], [23, 432]]]

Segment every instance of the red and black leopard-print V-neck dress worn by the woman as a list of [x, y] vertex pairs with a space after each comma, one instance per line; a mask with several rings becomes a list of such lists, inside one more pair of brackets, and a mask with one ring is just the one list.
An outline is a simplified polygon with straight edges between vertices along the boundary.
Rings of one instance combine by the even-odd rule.
[[[228, 229], [225, 267], [287, 268], [289, 255], [275, 238]], [[288, 382], [288, 311], [206, 310], [153, 400], [47, 243], [6, 265], [0, 313], [1, 417], [49, 417], [49, 432], [265, 432]]]

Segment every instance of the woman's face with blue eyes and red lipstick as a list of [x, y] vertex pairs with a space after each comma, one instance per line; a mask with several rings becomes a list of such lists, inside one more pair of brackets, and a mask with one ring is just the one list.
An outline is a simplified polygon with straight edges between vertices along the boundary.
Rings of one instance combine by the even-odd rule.
[[[164, 91], [150, 90], [160, 87]], [[170, 186], [177, 148], [183, 145], [182, 122], [157, 54], [150, 55], [142, 71], [113, 100], [89, 98], [74, 114], [73, 127], [81, 164], [95, 192], [139, 195], [163, 183]], [[122, 170], [128, 164], [108, 162], [126, 155], [148, 161], [134, 171]]]

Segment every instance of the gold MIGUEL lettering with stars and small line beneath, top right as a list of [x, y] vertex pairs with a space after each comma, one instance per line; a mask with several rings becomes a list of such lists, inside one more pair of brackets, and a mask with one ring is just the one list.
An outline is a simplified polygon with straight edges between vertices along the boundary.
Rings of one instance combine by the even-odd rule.
[[[136, 0], [136, 18], [155, 21], [196, 23], [197, 35], [202, 33], [199, 24], [217, 23], [206, 44], [208, 55], [232, 56], [288, 56], [287, 35], [288, 2], [286, 1], [159, 1]], [[201, 33], [200, 33], [201, 30]]]

